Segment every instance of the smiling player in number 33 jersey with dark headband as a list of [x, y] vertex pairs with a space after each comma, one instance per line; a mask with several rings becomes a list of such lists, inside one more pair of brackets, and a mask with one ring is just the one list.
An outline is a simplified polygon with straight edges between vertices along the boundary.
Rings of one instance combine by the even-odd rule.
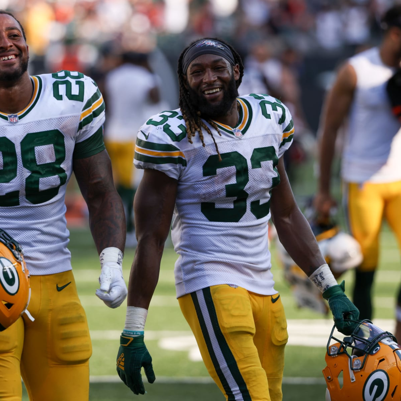
[[144, 394], [155, 380], [144, 326], [171, 219], [176, 294], [211, 377], [227, 400], [282, 399], [286, 316], [274, 289], [267, 223], [328, 298], [336, 326], [358, 310], [337, 284], [295, 203], [283, 154], [294, 135], [288, 108], [264, 94], [238, 96], [239, 54], [205, 38], [178, 60], [180, 108], [149, 118], [136, 141], [144, 177], [134, 200], [138, 247], [129, 281], [117, 372]]

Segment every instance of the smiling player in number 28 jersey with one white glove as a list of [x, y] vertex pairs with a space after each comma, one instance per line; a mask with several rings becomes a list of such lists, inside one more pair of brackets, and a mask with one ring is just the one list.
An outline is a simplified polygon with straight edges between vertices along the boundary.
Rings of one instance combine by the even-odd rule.
[[0, 333], [0, 399], [89, 399], [91, 340], [67, 249], [65, 188], [74, 172], [100, 254], [96, 294], [125, 299], [125, 216], [103, 144], [104, 102], [81, 73], [30, 76], [20, 23], [0, 11], [0, 227], [24, 250], [29, 312]]

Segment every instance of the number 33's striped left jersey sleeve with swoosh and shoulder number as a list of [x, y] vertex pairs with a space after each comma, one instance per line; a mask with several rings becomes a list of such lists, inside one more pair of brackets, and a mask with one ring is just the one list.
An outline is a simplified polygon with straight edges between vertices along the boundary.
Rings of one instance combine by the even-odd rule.
[[178, 142], [184, 138], [185, 122], [179, 109], [152, 116], [138, 131], [135, 167], [159, 170], [178, 180], [187, 164], [178, 147]]

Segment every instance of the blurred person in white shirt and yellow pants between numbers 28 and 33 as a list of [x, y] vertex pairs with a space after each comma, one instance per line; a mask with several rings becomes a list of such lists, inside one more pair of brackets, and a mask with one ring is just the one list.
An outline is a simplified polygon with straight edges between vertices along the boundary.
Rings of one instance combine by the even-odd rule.
[[148, 55], [144, 53], [123, 53], [121, 65], [105, 76], [105, 145], [126, 212], [126, 246], [136, 245], [133, 202], [142, 178], [142, 170], [136, 170], [133, 164], [136, 134], [149, 117], [148, 106], [157, 103], [160, 109], [159, 85], [158, 77], [150, 71]]

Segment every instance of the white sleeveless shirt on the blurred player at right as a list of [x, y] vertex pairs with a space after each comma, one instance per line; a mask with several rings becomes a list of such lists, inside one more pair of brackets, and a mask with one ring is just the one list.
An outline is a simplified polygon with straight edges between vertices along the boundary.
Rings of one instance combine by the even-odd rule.
[[356, 89], [346, 127], [341, 175], [347, 182], [401, 180], [401, 128], [391, 112], [387, 81], [395, 72], [374, 47], [349, 59]]

